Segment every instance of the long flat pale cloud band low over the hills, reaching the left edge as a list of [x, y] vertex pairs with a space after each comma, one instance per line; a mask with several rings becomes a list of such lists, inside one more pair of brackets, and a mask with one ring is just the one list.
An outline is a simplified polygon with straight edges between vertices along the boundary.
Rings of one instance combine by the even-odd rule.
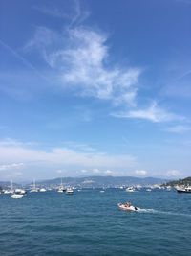
[[[93, 168], [97, 172], [98, 168], [111, 168], [111, 167], [130, 167], [136, 163], [136, 158], [131, 155], [120, 154], [110, 155], [107, 153], [99, 153], [97, 151], [74, 151], [69, 148], [52, 148], [49, 151], [34, 149], [34, 147], [26, 146], [24, 144], [1, 145], [0, 155], [4, 162], [19, 161], [19, 164], [12, 164], [11, 167], [18, 168], [26, 163], [30, 165], [38, 163], [38, 165], [54, 166], [59, 165], [61, 168], [67, 167], [87, 167]], [[39, 147], [38, 147], [39, 148]], [[0, 162], [1, 164], [1, 162]], [[97, 169], [95, 169], [95, 166]], [[1, 168], [9, 168], [8, 165], [3, 165]]]

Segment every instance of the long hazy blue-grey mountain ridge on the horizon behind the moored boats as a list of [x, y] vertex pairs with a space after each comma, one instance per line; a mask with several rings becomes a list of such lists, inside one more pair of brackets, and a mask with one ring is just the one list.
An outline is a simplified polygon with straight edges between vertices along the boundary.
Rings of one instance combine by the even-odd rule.
[[[54, 178], [43, 181], [36, 181], [37, 186], [57, 186], [60, 184], [60, 178]], [[154, 185], [167, 182], [166, 179], [155, 177], [134, 177], [134, 176], [87, 176], [87, 177], [62, 177], [65, 186], [78, 186], [83, 188], [100, 188], [132, 185]], [[32, 185], [32, 184], [29, 184]]]

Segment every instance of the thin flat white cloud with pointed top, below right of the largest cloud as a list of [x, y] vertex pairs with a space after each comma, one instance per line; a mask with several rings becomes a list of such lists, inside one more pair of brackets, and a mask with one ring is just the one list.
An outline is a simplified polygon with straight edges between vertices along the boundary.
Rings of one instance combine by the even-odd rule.
[[126, 112], [112, 113], [112, 115], [119, 118], [145, 119], [154, 123], [183, 119], [182, 117], [159, 107], [156, 102], [146, 109], [128, 110]]

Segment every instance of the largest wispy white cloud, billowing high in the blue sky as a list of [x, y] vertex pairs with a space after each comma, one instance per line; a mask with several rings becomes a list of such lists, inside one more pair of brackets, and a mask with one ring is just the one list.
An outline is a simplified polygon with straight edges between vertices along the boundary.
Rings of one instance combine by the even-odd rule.
[[62, 34], [39, 27], [25, 50], [37, 48], [56, 71], [56, 81], [62, 87], [115, 105], [135, 105], [141, 70], [109, 64], [106, 41], [103, 33], [84, 27]]

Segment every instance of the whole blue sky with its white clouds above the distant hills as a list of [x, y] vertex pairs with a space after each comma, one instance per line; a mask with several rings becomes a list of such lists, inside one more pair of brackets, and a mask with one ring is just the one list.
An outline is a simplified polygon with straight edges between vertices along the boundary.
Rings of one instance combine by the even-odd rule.
[[191, 1], [0, 0], [0, 179], [191, 166]]

